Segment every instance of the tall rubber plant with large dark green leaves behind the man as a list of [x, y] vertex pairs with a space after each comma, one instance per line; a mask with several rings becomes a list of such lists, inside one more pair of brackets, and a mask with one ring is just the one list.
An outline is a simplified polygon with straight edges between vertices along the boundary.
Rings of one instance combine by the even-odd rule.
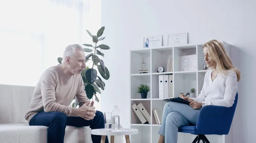
[[[104, 30], [105, 26], [100, 28], [96, 35], [93, 35], [90, 33], [90, 31], [86, 30], [92, 38], [93, 45], [83, 44], [87, 47], [84, 48], [84, 52], [88, 53], [87, 56], [85, 56], [84, 62], [90, 61], [93, 64], [92, 67], [87, 66], [81, 73], [82, 79], [84, 81], [84, 90], [86, 92], [87, 98], [92, 99], [94, 95], [97, 102], [99, 102], [99, 98], [96, 94], [101, 94], [101, 90], [105, 90], [105, 82], [102, 79], [108, 80], [110, 77], [109, 70], [102, 60], [102, 57], [104, 58], [105, 56], [102, 52], [104, 52], [104, 50], [109, 50], [110, 47], [105, 44], [98, 44], [99, 41], [105, 39], [105, 36], [102, 36]], [[58, 57], [58, 62], [60, 64], [61, 61], [62, 58]], [[96, 69], [98, 69], [99, 73]], [[75, 100], [72, 107], [76, 108], [77, 105], [78, 102]]]

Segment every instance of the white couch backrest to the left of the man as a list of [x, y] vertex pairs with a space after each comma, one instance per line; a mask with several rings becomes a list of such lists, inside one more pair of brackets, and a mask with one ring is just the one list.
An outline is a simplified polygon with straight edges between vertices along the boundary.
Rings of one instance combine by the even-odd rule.
[[27, 123], [35, 87], [0, 84], [0, 123]]

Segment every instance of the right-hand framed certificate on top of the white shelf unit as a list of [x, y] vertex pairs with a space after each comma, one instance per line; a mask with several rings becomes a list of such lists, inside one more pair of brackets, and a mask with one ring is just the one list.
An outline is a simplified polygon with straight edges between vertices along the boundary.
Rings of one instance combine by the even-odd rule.
[[170, 34], [168, 35], [167, 45], [179, 45], [188, 43], [188, 33]]

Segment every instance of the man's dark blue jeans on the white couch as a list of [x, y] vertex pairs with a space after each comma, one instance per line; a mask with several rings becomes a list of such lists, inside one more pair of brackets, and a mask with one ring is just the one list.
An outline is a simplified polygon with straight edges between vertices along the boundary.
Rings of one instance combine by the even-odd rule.
[[[64, 143], [66, 126], [90, 126], [91, 129], [105, 128], [104, 115], [97, 111], [92, 120], [81, 117], [67, 117], [63, 112], [38, 112], [29, 121], [29, 126], [48, 126], [47, 143]], [[100, 135], [91, 135], [93, 143], [100, 143]], [[106, 136], [105, 143], [108, 143]]]

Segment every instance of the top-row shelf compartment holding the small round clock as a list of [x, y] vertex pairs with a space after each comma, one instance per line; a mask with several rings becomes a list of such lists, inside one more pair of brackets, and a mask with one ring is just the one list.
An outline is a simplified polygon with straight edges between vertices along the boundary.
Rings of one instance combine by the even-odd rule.
[[157, 73], [157, 67], [159, 66], [163, 66], [164, 72], [167, 72], [168, 59], [172, 57], [172, 47], [152, 49], [152, 73]]

